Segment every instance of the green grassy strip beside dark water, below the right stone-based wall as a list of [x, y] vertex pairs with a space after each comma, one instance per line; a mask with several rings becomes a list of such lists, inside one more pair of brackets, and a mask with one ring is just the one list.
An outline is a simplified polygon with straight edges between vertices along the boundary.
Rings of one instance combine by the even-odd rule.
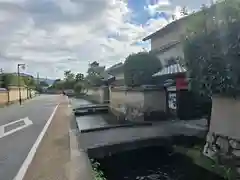
[[235, 180], [237, 172], [230, 167], [219, 165], [215, 160], [210, 159], [202, 154], [202, 148], [194, 146], [193, 148], [185, 148], [182, 146], [174, 146], [176, 153], [181, 153], [192, 159], [193, 163], [213, 172], [227, 180]]

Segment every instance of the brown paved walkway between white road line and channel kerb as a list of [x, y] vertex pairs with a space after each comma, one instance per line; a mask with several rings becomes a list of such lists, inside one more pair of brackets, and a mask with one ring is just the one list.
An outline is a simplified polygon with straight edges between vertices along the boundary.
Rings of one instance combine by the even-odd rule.
[[62, 99], [24, 180], [68, 180], [70, 109]]

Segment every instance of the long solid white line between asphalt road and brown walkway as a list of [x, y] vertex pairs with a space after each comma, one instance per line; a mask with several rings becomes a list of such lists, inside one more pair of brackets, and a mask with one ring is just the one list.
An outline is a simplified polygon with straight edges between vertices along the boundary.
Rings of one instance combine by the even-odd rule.
[[21, 168], [19, 169], [17, 175], [15, 176], [15, 178], [13, 180], [22, 180], [27, 172], [27, 169], [29, 167], [29, 165], [31, 164], [33, 158], [34, 158], [34, 155], [35, 153], [37, 152], [37, 148], [39, 146], [39, 144], [41, 143], [49, 125], [51, 124], [52, 122], [52, 119], [57, 111], [57, 108], [58, 108], [59, 104], [54, 108], [51, 116], [49, 117], [49, 119], [47, 120], [45, 126], [43, 127], [43, 130], [41, 131], [41, 133], [39, 134], [37, 140], [35, 141], [35, 143], [33, 144], [31, 150], [29, 151], [28, 155], [27, 155], [27, 158], [24, 160]]

